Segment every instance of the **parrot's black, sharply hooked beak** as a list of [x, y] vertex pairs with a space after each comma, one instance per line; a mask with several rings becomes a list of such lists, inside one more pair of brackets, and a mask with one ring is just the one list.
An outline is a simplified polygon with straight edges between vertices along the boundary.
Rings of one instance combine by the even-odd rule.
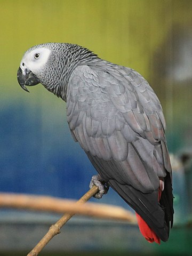
[[22, 71], [22, 69], [19, 67], [18, 73], [17, 73], [17, 78], [18, 78], [18, 82], [19, 82], [20, 86], [26, 92], [29, 92], [28, 89], [26, 88], [26, 85], [33, 86], [33, 85], [40, 83], [39, 79], [36, 77], [36, 75], [34, 75], [27, 68]]

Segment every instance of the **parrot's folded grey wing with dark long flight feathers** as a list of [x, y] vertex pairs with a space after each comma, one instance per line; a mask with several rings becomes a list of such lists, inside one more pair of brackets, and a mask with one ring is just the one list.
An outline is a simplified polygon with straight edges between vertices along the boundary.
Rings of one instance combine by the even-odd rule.
[[101, 177], [166, 240], [157, 197], [159, 177], [171, 166], [162, 108], [145, 79], [117, 65], [77, 67], [68, 86], [67, 121]]

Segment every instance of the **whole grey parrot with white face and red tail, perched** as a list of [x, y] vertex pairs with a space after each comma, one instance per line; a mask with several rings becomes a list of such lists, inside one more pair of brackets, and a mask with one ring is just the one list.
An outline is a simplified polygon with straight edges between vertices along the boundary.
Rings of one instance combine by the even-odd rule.
[[17, 77], [25, 91], [41, 83], [66, 101], [71, 134], [99, 173], [90, 183], [95, 197], [112, 187], [148, 242], [167, 241], [174, 210], [165, 119], [145, 78], [69, 43], [31, 47]]

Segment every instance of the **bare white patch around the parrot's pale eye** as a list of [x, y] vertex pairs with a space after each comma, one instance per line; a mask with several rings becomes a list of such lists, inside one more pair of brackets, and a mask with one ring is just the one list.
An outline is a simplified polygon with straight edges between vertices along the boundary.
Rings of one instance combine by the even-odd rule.
[[25, 53], [23, 56], [20, 67], [22, 70], [28, 68], [32, 72], [43, 68], [49, 59], [51, 50], [47, 48], [36, 48], [31, 52]]

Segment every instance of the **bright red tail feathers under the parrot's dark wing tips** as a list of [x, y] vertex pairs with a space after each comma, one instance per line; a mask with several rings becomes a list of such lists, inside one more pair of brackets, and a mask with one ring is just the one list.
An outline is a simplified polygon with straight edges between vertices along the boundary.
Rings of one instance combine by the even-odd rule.
[[[159, 194], [158, 194], [158, 201], [161, 198], [161, 193], [162, 191], [159, 189]], [[157, 243], [160, 244], [161, 240], [160, 238], [155, 234], [155, 232], [153, 230], [150, 229], [150, 227], [147, 225], [147, 223], [140, 217], [140, 215], [135, 212], [136, 217], [137, 217], [137, 221], [138, 221], [138, 226], [140, 229], [141, 234], [146, 238], [146, 240], [149, 243]]]

